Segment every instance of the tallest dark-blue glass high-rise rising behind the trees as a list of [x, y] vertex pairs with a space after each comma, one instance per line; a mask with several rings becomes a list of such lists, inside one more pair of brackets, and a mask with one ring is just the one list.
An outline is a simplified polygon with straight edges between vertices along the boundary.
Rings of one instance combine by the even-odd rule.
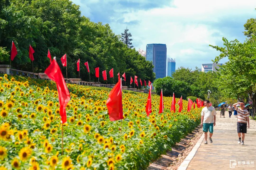
[[147, 44], [146, 60], [153, 62], [156, 79], [166, 76], [166, 44]]

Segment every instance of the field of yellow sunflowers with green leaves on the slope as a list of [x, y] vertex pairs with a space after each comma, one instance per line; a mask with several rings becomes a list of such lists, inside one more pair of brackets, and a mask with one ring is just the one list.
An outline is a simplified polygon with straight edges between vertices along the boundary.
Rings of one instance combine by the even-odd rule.
[[[109, 120], [109, 88], [67, 84], [67, 123], [61, 123], [53, 81], [0, 74], [0, 170], [145, 169], [200, 123], [200, 108], [170, 112], [172, 97], [123, 90], [121, 121]], [[179, 99], [176, 99], [176, 102]]]

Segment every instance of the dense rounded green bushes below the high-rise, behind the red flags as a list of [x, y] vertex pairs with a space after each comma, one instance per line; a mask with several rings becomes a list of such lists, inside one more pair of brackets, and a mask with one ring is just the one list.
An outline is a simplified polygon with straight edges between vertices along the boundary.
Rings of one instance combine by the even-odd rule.
[[161, 89], [163, 89], [164, 96], [172, 96], [175, 93], [175, 97], [183, 96], [184, 99], [186, 96], [203, 97], [201, 90], [196, 86], [189, 85], [184, 81], [175, 80], [169, 76], [156, 79], [153, 86], [158, 95], [160, 95]]

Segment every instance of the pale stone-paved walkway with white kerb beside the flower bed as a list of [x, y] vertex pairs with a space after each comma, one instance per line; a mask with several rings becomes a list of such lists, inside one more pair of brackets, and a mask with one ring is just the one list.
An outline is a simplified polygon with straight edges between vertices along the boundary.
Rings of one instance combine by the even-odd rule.
[[[239, 145], [237, 143], [237, 119], [234, 115], [229, 118], [228, 112], [225, 112], [226, 118], [220, 118], [219, 115], [220, 112], [217, 111], [216, 126], [214, 126], [212, 136], [213, 143], [208, 140], [208, 145], [205, 145], [204, 138], [201, 137], [198, 141], [199, 148], [194, 149], [194, 154], [191, 151], [179, 169], [186, 169], [184, 163], [186, 164], [186, 161], [188, 163], [189, 160], [191, 161], [187, 166], [188, 170], [256, 169], [256, 121], [250, 120], [250, 128], [247, 128], [244, 145]], [[232, 164], [234, 168], [230, 168]]]

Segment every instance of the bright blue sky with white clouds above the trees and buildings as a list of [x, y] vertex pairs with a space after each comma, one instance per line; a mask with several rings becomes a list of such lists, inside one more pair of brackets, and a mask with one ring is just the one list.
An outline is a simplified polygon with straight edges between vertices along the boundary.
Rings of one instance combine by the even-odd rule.
[[[211, 63], [222, 46], [222, 37], [243, 42], [244, 23], [256, 18], [256, 0], [72, 0], [82, 15], [93, 22], [108, 23], [116, 34], [127, 27], [133, 45], [162, 43], [167, 57], [180, 66], [194, 69]], [[226, 62], [222, 59], [220, 63]]]

